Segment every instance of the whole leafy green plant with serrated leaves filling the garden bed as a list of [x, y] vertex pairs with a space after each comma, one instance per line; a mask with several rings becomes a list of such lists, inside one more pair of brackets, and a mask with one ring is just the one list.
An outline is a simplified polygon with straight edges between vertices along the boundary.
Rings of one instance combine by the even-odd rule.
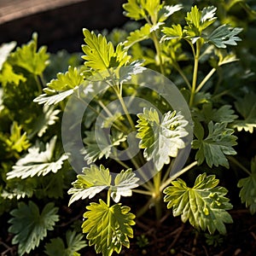
[[[242, 28], [218, 20], [214, 6], [188, 9], [160, 0], [128, 0], [123, 8], [137, 29], [104, 35], [84, 28], [84, 63], [74, 55], [49, 55], [45, 46], [38, 49], [36, 33], [21, 47], [12, 42], [0, 48], [0, 213], [11, 210], [9, 232], [19, 255], [42, 243], [47, 255], [80, 255], [87, 243], [75, 230], [45, 238], [54, 232], [60, 199], [67, 194], [68, 207], [86, 202], [81, 231], [102, 255], [129, 248], [136, 218], [151, 207], [159, 222], [172, 211], [196, 230], [226, 234], [226, 224], [233, 222], [229, 191], [219, 184], [226, 169], [244, 173], [236, 181], [241, 203], [256, 212], [255, 157], [249, 170], [236, 152], [239, 140], [256, 127], [255, 92], [250, 85], [232, 90], [228, 71], [240, 65], [236, 47]], [[57, 70], [59, 58], [68, 67]], [[139, 85], [162, 85], [156, 77], [139, 80], [137, 75], [149, 68], [176, 84], [193, 123], [182, 109]], [[130, 113], [137, 98], [137, 113]], [[73, 99], [82, 105], [70, 104]], [[79, 113], [77, 106], [87, 107], [80, 123], [63, 123], [65, 116]], [[84, 147], [78, 154], [64, 150], [61, 125], [74, 145], [74, 127], [80, 127]], [[173, 173], [180, 152], [190, 147], [185, 165]], [[75, 170], [77, 176], [76, 160], [84, 165]], [[140, 209], [123, 204], [124, 197], [137, 194], [148, 198]]]

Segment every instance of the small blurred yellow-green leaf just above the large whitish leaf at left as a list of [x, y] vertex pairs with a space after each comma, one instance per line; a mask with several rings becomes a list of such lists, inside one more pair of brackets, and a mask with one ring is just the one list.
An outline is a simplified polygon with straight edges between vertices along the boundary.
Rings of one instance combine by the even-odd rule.
[[5, 141], [10, 151], [15, 150], [21, 152], [30, 147], [30, 143], [27, 140], [26, 132], [21, 135], [22, 126], [14, 122], [11, 126], [10, 137]]

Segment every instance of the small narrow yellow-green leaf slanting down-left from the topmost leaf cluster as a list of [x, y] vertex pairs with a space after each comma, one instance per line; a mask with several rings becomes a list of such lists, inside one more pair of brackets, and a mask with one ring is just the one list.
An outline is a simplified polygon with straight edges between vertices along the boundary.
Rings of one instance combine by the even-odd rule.
[[129, 49], [133, 44], [137, 44], [143, 40], [149, 38], [151, 26], [146, 23], [134, 32], [131, 32], [127, 40], [125, 41], [125, 49]]

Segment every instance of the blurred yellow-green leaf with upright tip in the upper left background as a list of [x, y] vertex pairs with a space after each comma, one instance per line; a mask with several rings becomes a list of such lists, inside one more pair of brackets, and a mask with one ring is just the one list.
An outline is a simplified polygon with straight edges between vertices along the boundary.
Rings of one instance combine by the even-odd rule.
[[38, 34], [33, 33], [32, 41], [18, 47], [10, 55], [10, 62], [19, 67], [25, 68], [28, 72], [40, 75], [44, 72], [45, 67], [49, 64], [49, 54], [46, 53], [46, 47], [38, 49]]

